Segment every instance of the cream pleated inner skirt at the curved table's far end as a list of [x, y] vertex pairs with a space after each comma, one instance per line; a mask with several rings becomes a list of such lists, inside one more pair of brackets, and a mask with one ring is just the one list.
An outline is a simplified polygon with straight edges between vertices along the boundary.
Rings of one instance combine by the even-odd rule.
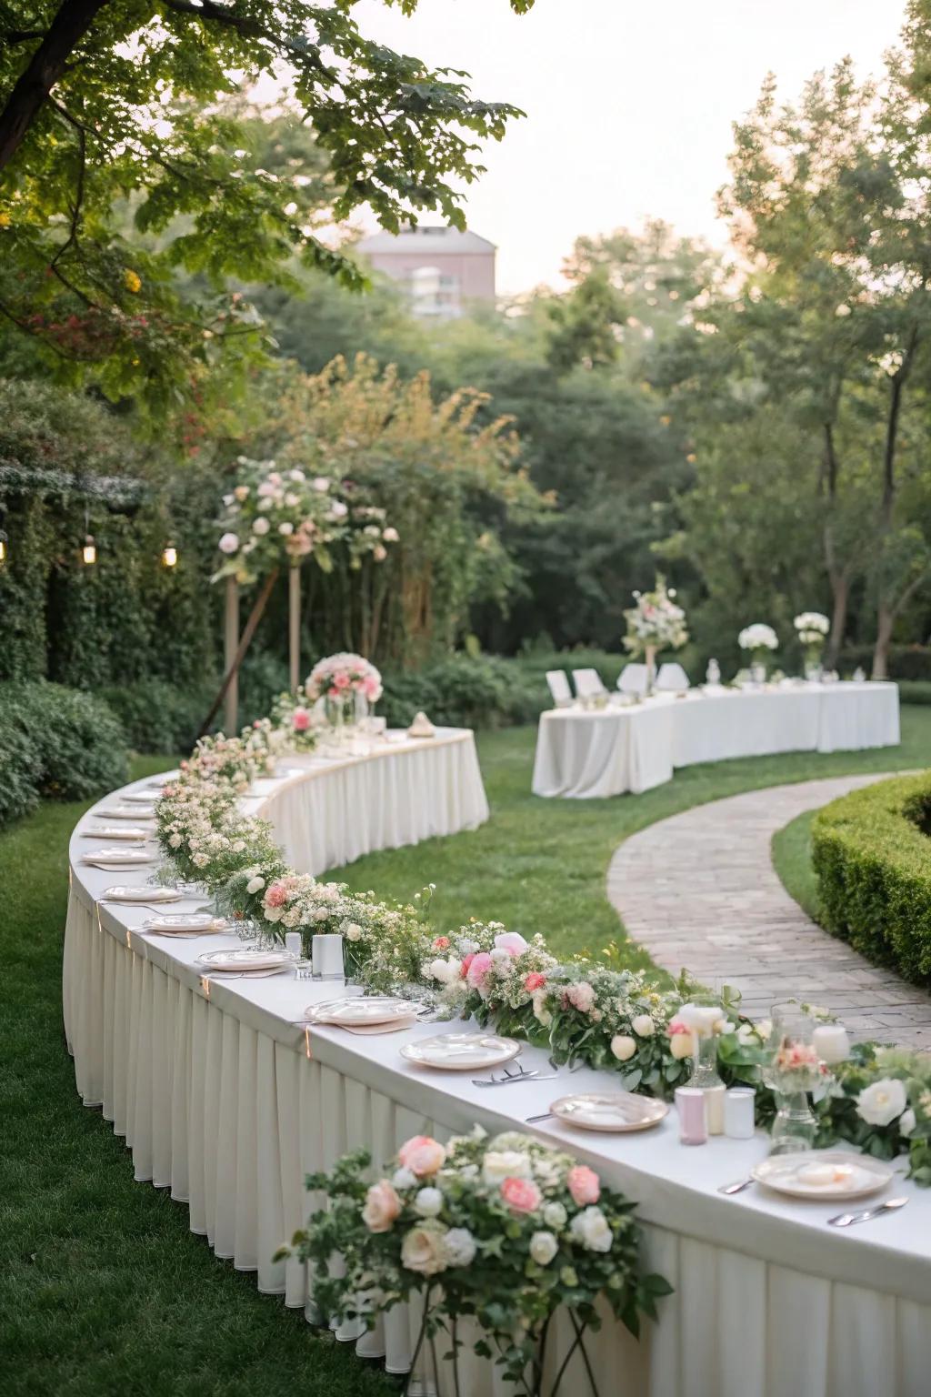
[[465, 728], [373, 745], [362, 757], [289, 757], [286, 766], [285, 777], [255, 782], [244, 809], [271, 820], [288, 862], [303, 873], [489, 819], [475, 736]]

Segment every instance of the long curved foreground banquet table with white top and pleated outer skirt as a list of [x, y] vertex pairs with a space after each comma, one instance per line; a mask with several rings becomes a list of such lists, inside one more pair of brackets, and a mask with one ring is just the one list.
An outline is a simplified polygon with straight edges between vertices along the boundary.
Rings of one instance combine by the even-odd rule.
[[[295, 795], [304, 784], [283, 780]], [[253, 800], [274, 814], [275, 791]], [[377, 1162], [388, 1160], [422, 1132], [445, 1139], [476, 1122], [490, 1132], [528, 1129], [523, 1118], [556, 1097], [616, 1081], [563, 1070], [558, 1080], [483, 1091], [466, 1074], [419, 1070], [401, 1058], [401, 1044], [435, 1025], [385, 1037], [308, 1031], [300, 1023], [306, 1006], [332, 997], [332, 985], [290, 975], [205, 982], [197, 957], [237, 944], [234, 937], [144, 933], [145, 908], [100, 902], [109, 886], [142, 884], [148, 870], [84, 865], [94, 823], [91, 810], [71, 841], [64, 947], [64, 1020], [78, 1091], [126, 1139], [137, 1179], [169, 1189], [218, 1256], [255, 1271], [262, 1292], [303, 1306], [308, 1319], [320, 1316], [304, 1268], [271, 1261], [321, 1201], [304, 1192], [308, 1171], [359, 1147]], [[528, 1046], [522, 1059], [546, 1063]], [[639, 1345], [614, 1322], [588, 1341], [602, 1397], [924, 1397], [931, 1192], [896, 1179], [907, 1208], [840, 1232], [825, 1225], [836, 1203], [798, 1204], [758, 1187], [717, 1193], [765, 1155], [759, 1134], [690, 1150], [678, 1144], [674, 1112], [634, 1136], [585, 1134], [557, 1122], [533, 1130], [639, 1203], [646, 1264], [676, 1287]], [[338, 1334], [391, 1372], [409, 1369], [415, 1336], [416, 1316], [406, 1309], [373, 1334], [359, 1337], [350, 1326]], [[565, 1343], [557, 1326], [554, 1356]], [[586, 1390], [583, 1372], [569, 1368], [565, 1391]], [[449, 1397], [445, 1372], [440, 1391]], [[472, 1358], [462, 1391], [504, 1397], [507, 1389]]]

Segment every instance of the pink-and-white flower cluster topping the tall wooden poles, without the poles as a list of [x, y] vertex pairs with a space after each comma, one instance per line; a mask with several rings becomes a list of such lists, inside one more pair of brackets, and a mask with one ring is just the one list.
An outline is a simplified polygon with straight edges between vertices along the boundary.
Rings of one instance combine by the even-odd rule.
[[385, 511], [370, 504], [359, 488], [328, 475], [308, 476], [299, 468], [279, 471], [275, 461], [237, 458], [237, 482], [223, 496], [218, 548], [223, 560], [214, 581], [234, 577], [254, 583], [288, 563], [313, 559], [332, 571], [332, 548], [349, 550], [349, 566], [364, 557], [381, 563], [398, 531], [385, 525]]

